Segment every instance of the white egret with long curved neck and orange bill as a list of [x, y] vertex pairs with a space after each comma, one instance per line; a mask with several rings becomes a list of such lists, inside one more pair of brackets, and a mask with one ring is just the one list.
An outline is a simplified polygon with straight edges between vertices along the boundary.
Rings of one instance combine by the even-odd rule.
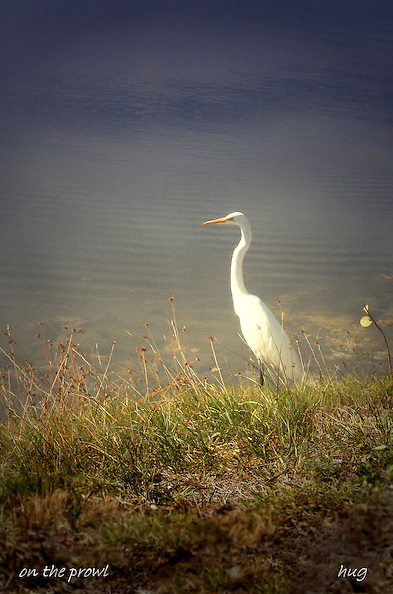
[[257, 295], [249, 293], [244, 285], [243, 259], [250, 247], [252, 233], [248, 218], [242, 212], [206, 221], [203, 225], [237, 225], [241, 238], [233, 251], [231, 262], [231, 292], [233, 307], [240, 320], [244, 339], [259, 363], [260, 383], [264, 383], [264, 367], [272, 368], [280, 380], [300, 381], [302, 367], [292, 349], [282, 324]]

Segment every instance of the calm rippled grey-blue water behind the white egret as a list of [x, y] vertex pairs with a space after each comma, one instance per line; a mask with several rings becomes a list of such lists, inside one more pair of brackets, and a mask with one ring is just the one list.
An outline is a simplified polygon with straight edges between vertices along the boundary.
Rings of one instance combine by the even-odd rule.
[[116, 340], [119, 361], [148, 322], [165, 350], [173, 296], [199, 369], [213, 335], [236, 373], [238, 233], [201, 223], [241, 210], [246, 285], [278, 315], [281, 300], [288, 332], [318, 337], [331, 366], [359, 365], [353, 347], [385, 363], [359, 319], [363, 303], [393, 318], [392, 27], [306, 33], [147, 20], [10, 59], [0, 326], [27, 353], [40, 320], [53, 340], [82, 327], [103, 355]]

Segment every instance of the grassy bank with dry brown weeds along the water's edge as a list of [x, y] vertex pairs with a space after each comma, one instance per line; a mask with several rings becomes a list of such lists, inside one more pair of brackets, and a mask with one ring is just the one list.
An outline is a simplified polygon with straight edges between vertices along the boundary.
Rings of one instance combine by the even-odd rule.
[[42, 324], [41, 368], [5, 332], [0, 591], [393, 592], [391, 368], [227, 385], [170, 326], [124, 373], [81, 330]]

